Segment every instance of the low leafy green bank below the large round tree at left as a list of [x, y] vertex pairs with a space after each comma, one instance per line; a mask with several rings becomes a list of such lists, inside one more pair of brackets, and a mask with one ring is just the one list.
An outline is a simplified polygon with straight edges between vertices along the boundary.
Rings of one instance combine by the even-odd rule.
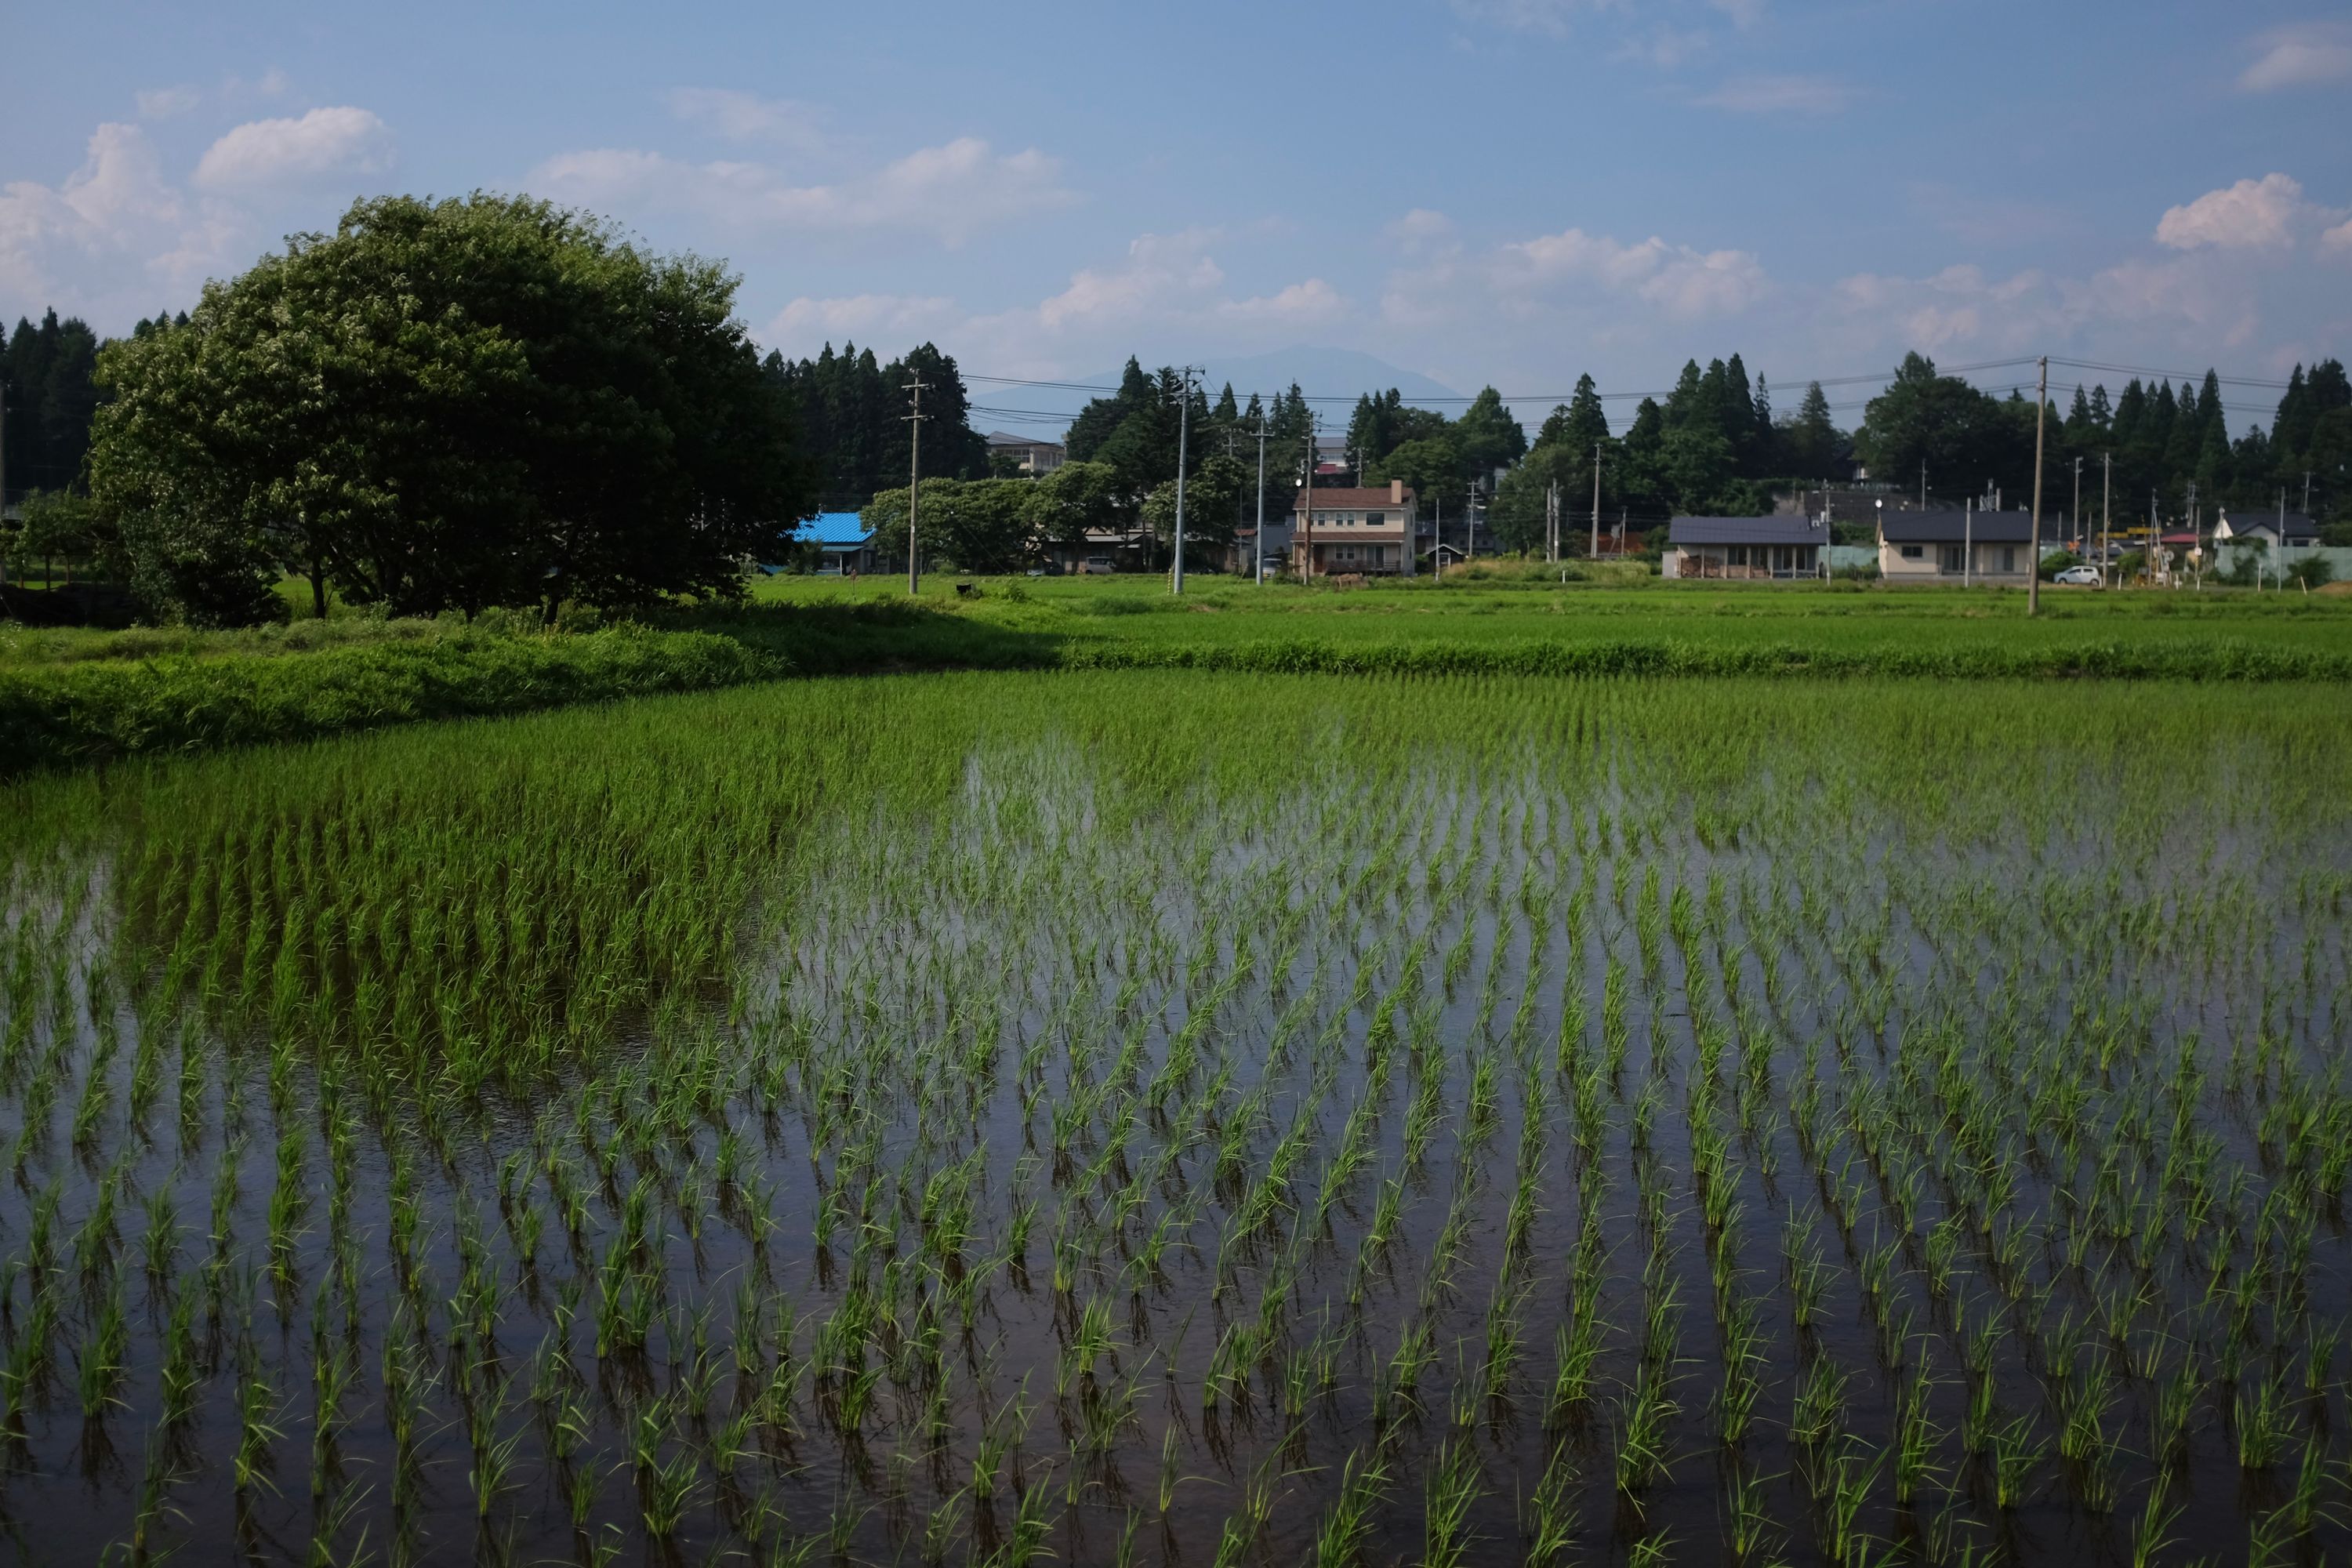
[[0, 670], [0, 776], [788, 672], [779, 654], [729, 637], [642, 628]]

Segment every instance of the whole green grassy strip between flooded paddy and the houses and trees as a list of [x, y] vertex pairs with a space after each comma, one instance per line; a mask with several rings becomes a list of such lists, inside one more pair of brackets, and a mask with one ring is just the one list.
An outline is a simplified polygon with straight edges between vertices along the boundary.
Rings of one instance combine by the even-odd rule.
[[329, 618], [261, 632], [0, 630], [0, 773], [409, 719], [889, 670], [2352, 679], [2317, 595], [1696, 588], [1454, 576], [1334, 590], [1204, 576], [762, 581], [746, 607], [539, 632]]

